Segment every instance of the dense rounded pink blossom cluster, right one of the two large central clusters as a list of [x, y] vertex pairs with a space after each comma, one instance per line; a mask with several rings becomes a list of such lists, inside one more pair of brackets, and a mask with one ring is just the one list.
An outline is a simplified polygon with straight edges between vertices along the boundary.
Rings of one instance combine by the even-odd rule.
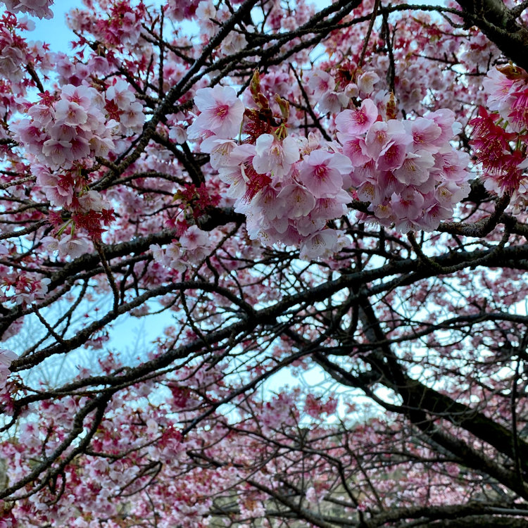
[[365, 99], [360, 108], [339, 114], [336, 124], [354, 165], [357, 196], [370, 203], [380, 224], [432, 231], [469, 194], [469, 156], [449, 143], [460, 132], [451, 110], [403, 122], [377, 120], [374, 103]]

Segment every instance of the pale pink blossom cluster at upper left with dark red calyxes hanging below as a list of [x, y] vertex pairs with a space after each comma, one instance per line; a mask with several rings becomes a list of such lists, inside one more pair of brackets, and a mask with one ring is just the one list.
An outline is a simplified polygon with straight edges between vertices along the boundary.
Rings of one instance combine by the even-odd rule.
[[52, 207], [68, 210], [70, 220], [51, 210], [50, 222], [61, 234], [71, 225], [70, 234], [60, 241], [48, 239], [46, 247], [61, 256], [80, 256], [89, 249], [87, 239], [74, 236], [73, 227], [82, 228], [98, 239], [101, 225], [113, 220], [111, 206], [98, 191], [89, 190], [84, 168], [92, 168], [96, 156], [107, 157], [115, 150], [114, 138], [142, 130], [145, 120], [142, 103], [124, 80], [115, 79], [101, 95], [93, 87], [65, 84], [58, 96], [40, 95], [39, 103], [27, 103], [29, 118], [11, 125], [15, 138], [32, 158], [31, 172], [37, 186]]

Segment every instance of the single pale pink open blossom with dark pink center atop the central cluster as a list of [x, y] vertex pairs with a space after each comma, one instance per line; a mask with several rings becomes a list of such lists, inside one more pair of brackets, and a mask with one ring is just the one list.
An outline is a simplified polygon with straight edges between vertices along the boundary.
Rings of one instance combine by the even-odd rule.
[[201, 137], [204, 132], [218, 137], [231, 138], [239, 133], [244, 103], [237, 98], [231, 87], [215, 86], [196, 90], [194, 103], [201, 112], [187, 129], [191, 139]]

